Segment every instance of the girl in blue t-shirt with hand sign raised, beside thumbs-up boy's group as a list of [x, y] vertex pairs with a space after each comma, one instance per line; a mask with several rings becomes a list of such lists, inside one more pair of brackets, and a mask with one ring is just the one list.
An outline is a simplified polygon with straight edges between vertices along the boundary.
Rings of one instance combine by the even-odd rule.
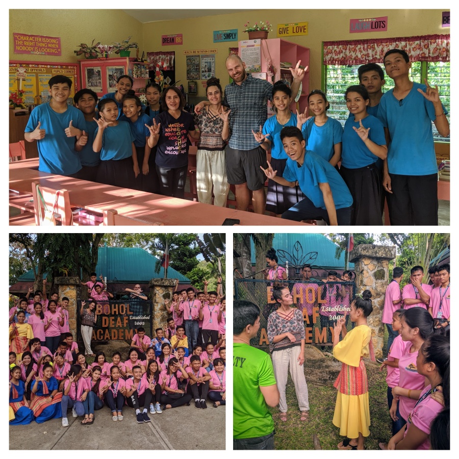
[[94, 133], [93, 150], [100, 151], [97, 182], [130, 188], [139, 174], [134, 136], [127, 121], [118, 121], [118, 106], [109, 98], [97, 104], [99, 119]]

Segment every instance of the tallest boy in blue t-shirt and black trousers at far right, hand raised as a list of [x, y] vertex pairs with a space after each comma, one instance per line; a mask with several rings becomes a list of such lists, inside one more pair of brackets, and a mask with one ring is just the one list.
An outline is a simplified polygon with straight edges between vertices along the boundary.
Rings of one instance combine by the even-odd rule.
[[438, 168], [432, 121], [443, 137], [449, 135], [446, 109], [438, 87], [410, 80], [411, 62], [401, 49], [390, 49], [384, 66], [395, 87], [379, 103], [389, 145], [382, 186], [388, 193], [391, 225], [438, 225]]

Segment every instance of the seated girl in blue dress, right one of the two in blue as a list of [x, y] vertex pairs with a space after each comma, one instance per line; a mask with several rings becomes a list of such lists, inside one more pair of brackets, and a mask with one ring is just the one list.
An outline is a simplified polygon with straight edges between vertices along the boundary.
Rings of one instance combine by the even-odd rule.
[[35, 394], [30, 404], [35, 421], [41, 424], [49, 419], [62, 418], [62, 392], [58, 392], [58, 382], [53, 376], [53, 366], [43, 365], [43, 376], [36, 375], [32, 385]]

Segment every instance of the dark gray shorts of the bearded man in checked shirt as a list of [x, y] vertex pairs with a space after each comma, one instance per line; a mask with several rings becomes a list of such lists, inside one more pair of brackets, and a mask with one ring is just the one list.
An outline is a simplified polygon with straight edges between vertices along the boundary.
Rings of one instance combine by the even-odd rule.
[[266, 175], [266, 151], [262, 147], [252, 150], [236, 150], [226, 147], [226, 176], [231, 185], [247, 183], [247, 188], [257, 191], [264, 187]]

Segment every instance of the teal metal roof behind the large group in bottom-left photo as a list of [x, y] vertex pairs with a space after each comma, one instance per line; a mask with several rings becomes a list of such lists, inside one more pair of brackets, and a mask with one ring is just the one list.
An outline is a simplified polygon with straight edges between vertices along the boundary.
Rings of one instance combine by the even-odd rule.
[[[157, 258], [140, 247], [99, 247], [98, 260], [95, 272], [102, 273], [110, 283], [139, 282], [148, 283], [154, 277], [164, 277], [164, 268], [155, 273]], [[167, 277], [179, 279], [179, 282], [190, 283], [185, 277], [170, 266], [167, 268]], [[33, 271], [22, 274], [18, 281], [34, 281]]]

